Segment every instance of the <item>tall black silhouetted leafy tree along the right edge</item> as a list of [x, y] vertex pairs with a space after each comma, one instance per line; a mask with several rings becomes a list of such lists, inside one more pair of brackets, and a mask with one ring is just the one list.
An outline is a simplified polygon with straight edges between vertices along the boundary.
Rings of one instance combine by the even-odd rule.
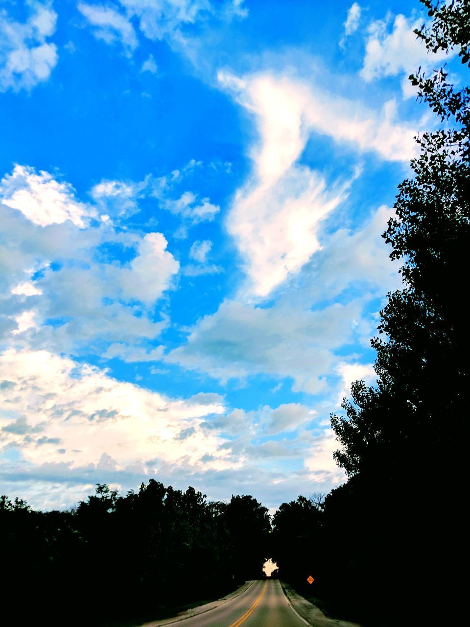
[[[432, 21], [417, 37], [431, 51], [456, 49], [468, 63], [469, 0], [422, 3]], [[335, 458], [350, 481], [326, 499], [325, 514], [331, 528], [333, 510], [343, 517], [354, 510], [359, 518], [337, 559], [362, 564], [376, 610], [387, 603], [384, 586], [399, 582], [414, 620], [424, 624], [429, 573], [437, 574], [449, 606], [458, 605], [454, 572], [466, 537], [470, 90], [454, 87], [445, 67], [431, 76], [418, 70], [410, 80], [446, 128], [416, 138], [414, 176], [399, 185], [384, 238], [390, 257], [402, 260], [403, 287], [389, 293], [381, 337], [372, 340], [377, 386], [355, 382], [352, 400], [343, 402], [345, 415], [332, 416], [342, 445]], [[442, 492], [446, 503], [436, 507], [434, 495]], [[380, 573], [380, 585], [370, 572]]]

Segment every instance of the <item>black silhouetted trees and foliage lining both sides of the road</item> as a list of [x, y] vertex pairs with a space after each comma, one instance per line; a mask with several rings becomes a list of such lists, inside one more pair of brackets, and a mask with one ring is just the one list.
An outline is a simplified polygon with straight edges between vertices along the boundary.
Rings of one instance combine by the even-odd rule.
[[[431, 26], [417, 37], [470, 65], [470, 0], [422, 3]], [[338, 616], [374, 627], [464, 622], [470, 89], [448, 78], [445, 68], [410, 76], [443, 128], [417, 138], [414, 175], [384, 233], [403, 287], [388, 295], [372, 340], [377, 385], [353, 384], [332, 416], [348, 482], [324, 502], [283, 503], [271, 534], [253, 497], [208, 503], [155, 481], [125, 497], [100, 485], [73, 512], [4, 499], [3, 592], [18, 614], [155, 618], [260, 576], [271, 555], [279, 576]]]

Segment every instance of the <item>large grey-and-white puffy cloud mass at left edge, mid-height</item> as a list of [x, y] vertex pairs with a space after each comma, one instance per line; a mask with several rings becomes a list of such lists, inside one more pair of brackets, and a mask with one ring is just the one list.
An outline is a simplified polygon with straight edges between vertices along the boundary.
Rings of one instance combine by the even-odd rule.
[[[113, 187], [115, 189], [115, 187]], [[168, 324], [155, 302], [179, 263], [161, 233], [144, 236], [99, 222], [95, 208], [48, 172], [16, 166], [1, 181], [0, 333], [65, 351], [105, 352], [113, 342], [154, 339]], [[102, 246], [127, 250], [122, 263]], [[132, 254], [133, 253], [133, 254]]]

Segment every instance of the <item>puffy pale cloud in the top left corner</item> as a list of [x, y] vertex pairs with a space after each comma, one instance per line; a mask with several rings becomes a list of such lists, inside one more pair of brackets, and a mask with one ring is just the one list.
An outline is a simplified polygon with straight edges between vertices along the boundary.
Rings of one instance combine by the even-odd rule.
[[28, 3], [24, 23], [0, 14], [0, 91], [31, 90], [47, 80], [58, 61], [57, 47], [48, 43], [56, 29], [51, 2]]

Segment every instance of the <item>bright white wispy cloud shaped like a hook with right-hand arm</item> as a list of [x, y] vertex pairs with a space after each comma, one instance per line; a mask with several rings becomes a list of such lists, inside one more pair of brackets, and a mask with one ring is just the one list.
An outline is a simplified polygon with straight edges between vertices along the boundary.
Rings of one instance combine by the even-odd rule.
[[415, 130], [397, 122], [393, 102], [379, 115], [270, 73], [238, 78], [221, 71], [219, 82], [254, 115], [258, 129], [253, 173], [236, 193], [226, 224], [243, 255], [249, 292], [266, 297], [320, 249], [321, 221], [347, 197], [348, 182], [327, 187], [319, 172], [298, 163], [310, 135], [406, 161], [414, 154]]

